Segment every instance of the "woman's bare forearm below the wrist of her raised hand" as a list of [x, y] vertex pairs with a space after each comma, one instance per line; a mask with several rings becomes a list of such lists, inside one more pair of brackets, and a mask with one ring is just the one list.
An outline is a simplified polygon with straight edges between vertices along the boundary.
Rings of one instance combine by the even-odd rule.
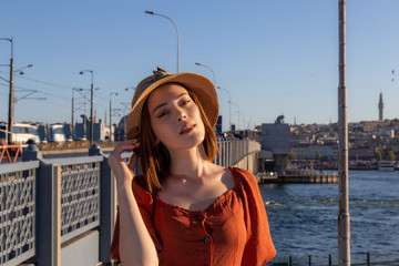
[[122, 265], [158, 265], [154, 242], [145, 227], [130, 184], [117, 184]]

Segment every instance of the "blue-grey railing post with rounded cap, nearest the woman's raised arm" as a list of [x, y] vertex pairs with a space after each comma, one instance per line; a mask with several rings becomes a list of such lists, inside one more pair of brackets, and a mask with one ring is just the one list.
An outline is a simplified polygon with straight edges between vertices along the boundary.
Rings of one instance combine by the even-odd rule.
[[116, 193], [115, 181], [108, 164], [108, 157], [104, 156], [98, 144], [91, 145], [90, 156], [102, 155], [100, 175], [100, 244], [99, 262], [110, 262], [110, 247], [116, 217]]

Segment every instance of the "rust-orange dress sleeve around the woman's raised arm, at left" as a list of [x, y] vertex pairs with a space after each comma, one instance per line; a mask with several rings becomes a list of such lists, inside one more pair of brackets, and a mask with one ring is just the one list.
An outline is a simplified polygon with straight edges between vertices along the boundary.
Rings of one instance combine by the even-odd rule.
[[[154, 242], [155, 248], [157, 252], [162, 250], [161, 241], [156, 234], [155, 226], [154, 226], [154, 197], [152, 194], [146, 192], [137, 182], [137, 180], [143, 178], [142, 176], [136, 176], [132, 182], [132, 191], [133, 195], [137, 202], [140, 213], [144, 221], [144, 224], [151, 235], [151, 238]], [[120, 242], [120, 211], [117, 209], [116, 213], [116, 222], [113, 232], [113, 238], [110, 248], [110, 257], [113, 259], [121, 260], [120, 253], [119, 253], [119, 242]]]

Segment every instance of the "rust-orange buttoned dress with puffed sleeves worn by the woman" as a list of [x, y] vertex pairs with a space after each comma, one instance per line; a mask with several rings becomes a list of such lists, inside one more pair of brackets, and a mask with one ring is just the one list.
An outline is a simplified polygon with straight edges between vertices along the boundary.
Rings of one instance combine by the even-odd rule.
[[[235, 187], [204, 211], [168, 204], [140, 185], [142, 176], [134, 178], [133, 194], [161, 266], [257, 266], [276, 255], [255, 176], [242, 168], [229, 170]], [[120, 260], [119, 235], [117, 214], [110, 255]]]

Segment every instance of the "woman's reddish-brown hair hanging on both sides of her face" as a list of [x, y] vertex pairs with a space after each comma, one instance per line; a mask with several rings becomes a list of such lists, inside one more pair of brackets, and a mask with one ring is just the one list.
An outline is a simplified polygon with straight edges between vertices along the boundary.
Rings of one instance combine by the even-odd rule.
[[[180, 83], [176, 84], [183, 86], [188, 92], [188, 95], [194, 101], [194, 103], [198, 106], [201, 119], [205, 127], [205, 137], [202, 145], [204, 146], [206, 160], [212, 162], [217, 153], [215, 132], [212, 129], [200, 99], [195, 95], [195, 93]], [[171, 156], [165, 145], [163, 145], [161, 142], [156, 144], [156, 136], [151, 129], [147, 101], [149, 98], [145, 100], [141, 113], [141, 145], [137, 149], [137, 153], [140, 156], [142, 173], [145, 180], [145, 184], [143, 184], [144, 188], [152, 194], [156, 194], [163, 190], [162, 183], [165, 181], [166, 173], [170, 171]]]

